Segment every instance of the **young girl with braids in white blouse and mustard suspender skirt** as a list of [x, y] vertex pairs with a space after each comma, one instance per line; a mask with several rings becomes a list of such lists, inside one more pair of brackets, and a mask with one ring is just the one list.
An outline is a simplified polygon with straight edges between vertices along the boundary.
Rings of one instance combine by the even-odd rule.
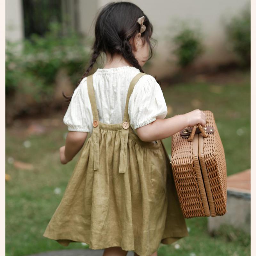
[[[165, 119], [160, 85], [142, 70], [152, 56], [152, 32], [130, 2], [99, 13], [89, 68], [63, 119], [69, 132], [60, 161], [82, 148], [81, 155], [45, 237], [65, 246], [84, 242], [105, 256], [149, 256], [160, 243], [188, 236], [162, 139], [206, 120], [199, 109]], [[100, 53], [106, 65], [87, 76]]]

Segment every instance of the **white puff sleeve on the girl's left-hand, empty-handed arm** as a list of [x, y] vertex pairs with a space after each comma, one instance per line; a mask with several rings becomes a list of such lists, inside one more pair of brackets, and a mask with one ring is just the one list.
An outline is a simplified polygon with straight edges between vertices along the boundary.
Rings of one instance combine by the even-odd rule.
[[[68, 105], [63, 123], [68, 126], [68, 131], [90, 132], [90, 109], [85, 106], [84, 102], [84, 82], [86, 78], [76, 87]], [[90, 105], [90, 104], [89, 104]]]

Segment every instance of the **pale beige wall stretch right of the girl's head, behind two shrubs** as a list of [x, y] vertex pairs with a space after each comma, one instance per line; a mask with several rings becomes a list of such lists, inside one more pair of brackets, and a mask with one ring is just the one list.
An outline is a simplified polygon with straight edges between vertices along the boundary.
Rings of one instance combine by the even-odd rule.
[[[86, 1], [87, 2], [87, 1]], [[108, 0], [98, 0], [99, 7], [107, 4]], [[215, 65], [215, 63], [225, 63], [234, 57], [226, 49], [225, 34], [222, 20], [228, 19], [239, 13], [244, 6], [250, 3], [248, 0], [134, 0], [148, 16], [153, 24], [153, 37], [157, 39], [156, 54], [150, 60], [152, 67], [150, 73], [158, 76], [166, 75], [175, 70], [174, 56], [170, 54], [172, 44], [168, 40], [172, 36], [169, 28], [175, 19], [188, 20], [192, 24], [198, 21], [202, 25], [204, 34], [204, 44], [206, 51], [202, 57], [197, 59], [195, 66]], [[210, 61], [210, 64], [208, 64]], [[159, 68], [160, 67], [160, 68]]]

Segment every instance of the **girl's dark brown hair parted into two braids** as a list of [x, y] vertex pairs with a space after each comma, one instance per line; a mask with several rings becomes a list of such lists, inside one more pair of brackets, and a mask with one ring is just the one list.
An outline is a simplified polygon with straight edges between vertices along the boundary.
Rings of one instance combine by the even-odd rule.
[[[151, 38], [153, 33], [153, 26], [149, 22], [147, 15], [136, 5], [130, 2], [111, 2], [102, 7], [96, 24], [95, 24], [95, 41], [92, 46], [92, 57], [89, 62], [89, 67], [84, 72], [82, 78], [76, 84], [76, 87], [80, 84], [84, 77], [88, 75], [92, 69], [96, 59], [101, 52], [108, 52], [111, 58], [114, 54], [120, 54], [127, 60], [133, 67], [140, 69], [143, 72], [138, 60], [132, 53], [132, 45], [129, 43], [137, 33], [140, 32], [140, 24], [137, 20], [144, 15], [145, 19], [143, 24], [146, 26], [146, 30], [141, 33], [144, 44], [149, 44], [150, 53], [149, 59], [153, 55], [153, 47], [151, 40], [157, 42]], [[76, 89], [75, 87], [75, 89]], [[62, 92], [63, 96], [70, 101], [71, 96], [66, 96]]]

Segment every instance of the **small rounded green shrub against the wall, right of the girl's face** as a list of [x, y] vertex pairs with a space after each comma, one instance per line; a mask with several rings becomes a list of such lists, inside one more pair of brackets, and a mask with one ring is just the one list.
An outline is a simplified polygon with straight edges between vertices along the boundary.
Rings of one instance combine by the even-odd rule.
[[204, 51], [200, 29], [190, 28], [187, 23], [181, 24], [172, 41], [175, 45], [173, 53], [182, 68], [190, 65]]

